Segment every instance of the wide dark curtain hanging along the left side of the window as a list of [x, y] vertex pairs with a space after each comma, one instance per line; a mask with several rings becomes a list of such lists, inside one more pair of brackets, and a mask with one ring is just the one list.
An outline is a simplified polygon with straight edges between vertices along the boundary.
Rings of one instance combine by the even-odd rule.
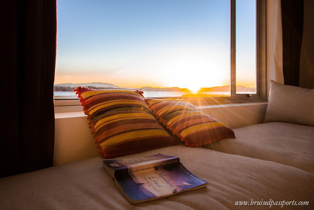
[[53, 165], [56, 0], [5, 1], [1, 177]]

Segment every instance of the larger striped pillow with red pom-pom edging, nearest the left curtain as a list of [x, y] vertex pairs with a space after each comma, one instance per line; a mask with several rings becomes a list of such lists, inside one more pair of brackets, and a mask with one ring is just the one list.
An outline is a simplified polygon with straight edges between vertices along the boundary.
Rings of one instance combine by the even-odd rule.
[[74, 91], [88, 116], [103, 158], [179, 144], [152, 115], [142, 92], [91, 90], [80, 86]]

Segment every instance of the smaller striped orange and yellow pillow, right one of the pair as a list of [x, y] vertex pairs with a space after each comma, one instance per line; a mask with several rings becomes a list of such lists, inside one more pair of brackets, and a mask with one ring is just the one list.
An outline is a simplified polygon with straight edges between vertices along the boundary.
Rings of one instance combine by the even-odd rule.
[[186, 100], [147, 98], [145, 101], [155, 117], [186, 146], [197, 147], [223, 138], [235, 138], [233, 130]]

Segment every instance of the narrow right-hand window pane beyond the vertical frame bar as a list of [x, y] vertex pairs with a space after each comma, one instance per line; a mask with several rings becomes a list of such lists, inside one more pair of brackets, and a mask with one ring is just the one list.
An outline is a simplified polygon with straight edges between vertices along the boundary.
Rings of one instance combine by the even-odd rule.
[[256, 3], [236, 1], [236, 93], [256, 93]]

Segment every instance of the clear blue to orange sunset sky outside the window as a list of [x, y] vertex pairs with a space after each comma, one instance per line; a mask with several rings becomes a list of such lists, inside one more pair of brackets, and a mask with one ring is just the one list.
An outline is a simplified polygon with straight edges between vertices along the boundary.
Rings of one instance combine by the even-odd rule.
[[[252, 3], [242, 1], [239, 8], [249, 11]], [[237, 18], [249, 24], [247, 12]], [[239, 70], [237, 83], [252, 86], [247, 77], [255, 85], [255, 75], [249, 73], [255, 67], [252, 71], [246, 63], [252, 57], [252, 49], [246, 49], [250, 33], [242, 28], [238, 42], [244, 62], [237, 65], [244, 72]], [[197, 90], [229, 81], [229, 0], [57, 0], [55, 84]]]

